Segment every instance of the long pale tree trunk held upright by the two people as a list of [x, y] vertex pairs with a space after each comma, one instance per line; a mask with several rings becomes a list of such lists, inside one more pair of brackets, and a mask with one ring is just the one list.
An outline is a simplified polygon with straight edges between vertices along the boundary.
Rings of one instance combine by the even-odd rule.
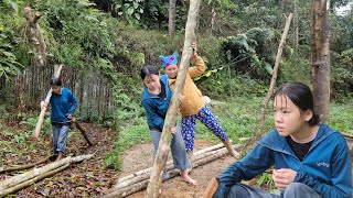
[[165, 116], [163, 132], [159, 142], [157, 155], [154, 158], [154, 164], [152, 168], [152, 174], [150, 177], [150, 182], [148, 184], [147, 193], [145, 197], [158, 197], [159, 189], [162, 183], [162, 172], [165, 167], [168, 154], [170, 151], [170, 142], [172, 139], [171, 129], [176, 123], [176, 114], [179, 108], [179, 97], [183, 91], [184, 82], [186, 73], [189, 70], [190, 59], [189, 57], [192, 54], [191, 44], [196, 41], [195, 36], [195, 25], [196, 25], [196, 18], [199, 13], [200, 0], [191, 0], [186, 28], [185, 28], [185, 41], [183, 47], [183, 54], [181, 57], [180, 69], [178, 72], [178, 78], [175, 84], [175, 89], [173, 91], [173, 96], [171, 99], [171, 105]]

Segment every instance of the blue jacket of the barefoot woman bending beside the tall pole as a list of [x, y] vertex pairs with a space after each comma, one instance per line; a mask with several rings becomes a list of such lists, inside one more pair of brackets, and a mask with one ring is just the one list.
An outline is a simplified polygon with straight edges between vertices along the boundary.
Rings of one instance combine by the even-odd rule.
[[168, 76], [161, 75], [161, 84], [164, 85], [165, 98], [160, 98], [143, 88], [141, 103], [146, 110], [147, 124], [150, 128], [163, 130], [164, 119], [168, 111], [169, 102], [172, 97], [172, 90], [169, 87]]

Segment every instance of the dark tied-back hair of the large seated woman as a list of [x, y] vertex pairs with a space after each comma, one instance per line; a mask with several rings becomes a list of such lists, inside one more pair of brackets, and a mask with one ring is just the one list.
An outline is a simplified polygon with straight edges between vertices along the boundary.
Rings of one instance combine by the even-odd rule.
[[319, 117], [313, 109], [312, 92], [306, 84], [297, 81], [285, 84], [276, 90], [274, 98], [276, 96], [287, 96], [302, 111], [311, 110], [312, 118], [308, 121], [309, 125], [319, 123]]

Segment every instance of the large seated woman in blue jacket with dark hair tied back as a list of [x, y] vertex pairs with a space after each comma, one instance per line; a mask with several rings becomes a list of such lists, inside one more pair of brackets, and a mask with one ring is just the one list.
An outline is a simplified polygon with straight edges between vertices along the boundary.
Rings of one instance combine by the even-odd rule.
[[[274, 98], [274, 118], [276, 128], [217, 177], [214, 197], [351, 197], [346, 141], [338, 131], [319, 123], [310, 88], [301, 82], [281, 86]], [[272, 166], [272, 180], [281, 196], [240, 184]]]

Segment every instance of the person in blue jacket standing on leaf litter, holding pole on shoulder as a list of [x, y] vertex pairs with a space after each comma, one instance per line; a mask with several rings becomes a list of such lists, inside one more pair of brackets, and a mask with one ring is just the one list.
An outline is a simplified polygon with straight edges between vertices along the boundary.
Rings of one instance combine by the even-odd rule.
[[[50, 100], [52, 109], [53, 152], [56, 161], [60, 161], [63, 158], [66, 150], [71, 119], [77, 108], [77, 99], [69, 89], [62, 87], [60, 78], [53, 78], [51, 86], [53, 94]], [[46, 106], [45, 101], [41, 102], [41, 108], [46, 108]]]

